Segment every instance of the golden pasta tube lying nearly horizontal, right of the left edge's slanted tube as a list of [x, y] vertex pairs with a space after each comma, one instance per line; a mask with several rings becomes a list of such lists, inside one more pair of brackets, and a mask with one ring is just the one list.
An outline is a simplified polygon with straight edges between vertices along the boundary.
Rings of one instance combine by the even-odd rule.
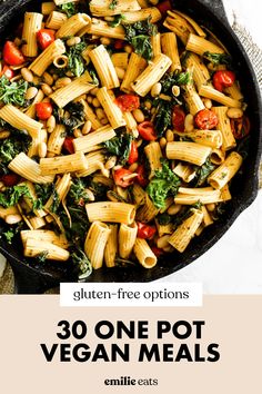
[[42, 175], [75, 173], [88, 169], [87, 159], [82, 151], [73, 155], [57, 156], [40, 160], [40, 170]]

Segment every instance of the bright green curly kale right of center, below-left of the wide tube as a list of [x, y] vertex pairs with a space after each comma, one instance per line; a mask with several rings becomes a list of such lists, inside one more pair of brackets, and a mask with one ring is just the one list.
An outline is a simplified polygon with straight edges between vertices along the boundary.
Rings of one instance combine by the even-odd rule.
[[147, 187], [147, 193], [154, 206], [164, 208], [164, 201], [169, 196], [175, 196], [180, 186], [179, 177], [169, 168], [168, 160], [162, 160], [162, 169], [157, 170], [153, 179]]

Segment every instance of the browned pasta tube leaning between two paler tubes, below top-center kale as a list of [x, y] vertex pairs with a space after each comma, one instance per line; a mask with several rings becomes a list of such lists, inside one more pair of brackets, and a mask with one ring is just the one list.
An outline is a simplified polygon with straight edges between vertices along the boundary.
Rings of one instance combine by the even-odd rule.
[[131, 83], [144, 71], [145, 67], [147, 60], [135, 52], [132, 52], [121, 85], [121, 90], [130, 93], [133, 90]]

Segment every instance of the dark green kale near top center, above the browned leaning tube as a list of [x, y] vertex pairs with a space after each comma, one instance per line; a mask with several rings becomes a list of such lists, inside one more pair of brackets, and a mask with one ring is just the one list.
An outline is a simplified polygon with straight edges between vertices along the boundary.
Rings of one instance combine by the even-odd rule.
[[124, 29], [125, 38], [134, 48], [135, 53], [147, 60], [151, 60], [153, 58], [151, 37], [158, 33], [158, 28], [150, 22], [150, 18], [140, 22], [125, 24]]

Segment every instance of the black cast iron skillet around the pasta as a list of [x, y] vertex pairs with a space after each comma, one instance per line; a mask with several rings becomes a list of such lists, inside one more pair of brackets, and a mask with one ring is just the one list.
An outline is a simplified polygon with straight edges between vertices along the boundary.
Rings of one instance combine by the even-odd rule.
[[[18, 17], [24, 10], [40, 10], [41, 1], [9, 0], [0, 3], [0, 33], [6, 37], [18, 23]], [[232, 55], [238, 69], [244, 97], [249, 104], [249, 115], [252, 121], [250, 155], [243, 174], [232, 184], [233, 200], [226, 207], [222, 219], [209, 227], [200, 237], [192, 240], [184, 254], [173, 253], [160, 262], [153, 269], [141, 267], [99, 269], [88, 279], [89, 282], [150, 282], [174, 273], [205, 253], [229, 229], [236, 217], [254, 200], [258, 194], [258, 169], [262, 150], [262, 107], [260, 90], [254, 71], [248, 56], [236, 36], [230, 28], [220, 0], [177, 0], [175, 8], [189, 13], [193, 19], [212, 30], [224, 42]], [[0, 224], [0, 233], [4, 226]], [[70, 264], [30, 265], [22, 257], [19, 243], [14, 246], [1, 240], [0, 253], [10, 262], [16, 276], [18, 294], [38, 294], [47, 288], [59, 285], [60, 282], [73, 282]]]

